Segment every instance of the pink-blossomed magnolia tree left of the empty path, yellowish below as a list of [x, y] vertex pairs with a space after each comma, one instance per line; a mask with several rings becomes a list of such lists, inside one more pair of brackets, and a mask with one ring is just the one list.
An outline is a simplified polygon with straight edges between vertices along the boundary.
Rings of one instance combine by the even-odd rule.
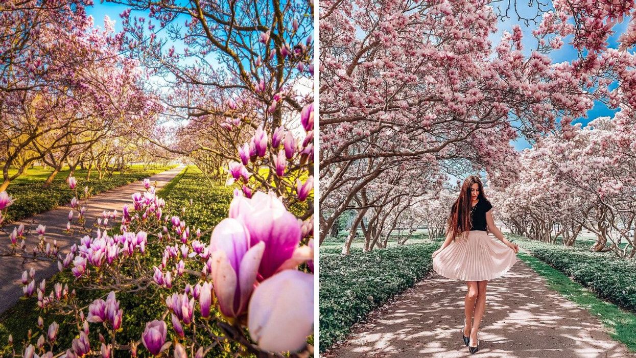
[[[80, 153], [127, 134], [156, 107], [112, 24], [93, 28], [82, 1], [9, 2], [0, 14], [0, 190], [39, 161], [76, 166]], [[10, 174], [11, 168], [17, 171]]]

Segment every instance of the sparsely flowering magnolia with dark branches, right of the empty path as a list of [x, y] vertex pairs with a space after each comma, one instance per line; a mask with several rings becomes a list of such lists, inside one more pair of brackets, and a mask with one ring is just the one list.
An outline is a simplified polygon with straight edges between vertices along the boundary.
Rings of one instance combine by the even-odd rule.
[[[158, 121], [187, 120], [170, 141], [165, 128], [134, 128], [138, 135], [190, 156], [206, 174], [224, 168], [245, 181], [247, 196], [312, 188], [311, 2], [114, 2], [148, 11], [148, 18], [121, 14], [121, 50], [161, 78]], [[186, 46], [176, 48], [174, 39]]]

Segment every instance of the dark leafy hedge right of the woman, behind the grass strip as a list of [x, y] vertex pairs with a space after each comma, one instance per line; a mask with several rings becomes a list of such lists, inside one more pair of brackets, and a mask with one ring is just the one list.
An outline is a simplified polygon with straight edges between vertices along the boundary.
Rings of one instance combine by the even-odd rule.
[[597, 296], [636, 312], [636, 261], [512, 235], [509, 238]]

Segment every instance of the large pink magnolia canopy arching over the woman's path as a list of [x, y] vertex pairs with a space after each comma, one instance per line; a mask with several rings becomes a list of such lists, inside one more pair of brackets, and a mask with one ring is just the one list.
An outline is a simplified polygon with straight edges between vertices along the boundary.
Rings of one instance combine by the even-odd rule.
[[[525, 56], [519, 26], [491, 43], [501, 13], [488, 2], [321, 1], [321, 206], [337, 202], [321, 214], [321, 239], [396, 163], [466, 160], [505, 186], [518, 167], [509, 140], [567, 132], [593, 100], [631, 106], [633, 27], [621, 50], [605, 46], [633, 3], [598, 3], [555, 1]], [[553, 64], [546, 53], [570, 35], [581, 58]], [[351, 195], [334, 196], [347, 186]]]

